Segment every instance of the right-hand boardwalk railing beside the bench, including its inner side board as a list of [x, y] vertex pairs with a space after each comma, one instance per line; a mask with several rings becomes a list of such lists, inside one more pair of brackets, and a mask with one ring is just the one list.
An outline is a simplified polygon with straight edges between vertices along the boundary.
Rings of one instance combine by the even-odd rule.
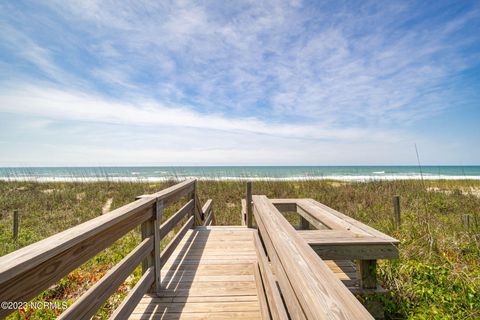
[[373, 319], [266, 196], [253, 213], [291, 318]]

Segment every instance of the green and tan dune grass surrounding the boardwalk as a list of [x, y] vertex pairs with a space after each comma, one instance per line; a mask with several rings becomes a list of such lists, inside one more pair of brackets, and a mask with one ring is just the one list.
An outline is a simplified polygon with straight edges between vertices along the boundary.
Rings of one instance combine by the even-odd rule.
[[[171, 184], [0, 182], [0, 255], [99, 216], [108, 201], [117, 208]], [[240, 224], [244, 182], [200, 181], [198, 187], [203, 201], [213, 199], [217, 224]], [[314, 198], [401, 240], [401, 258], [379, 265], [379, 280], [389, 292], [374, 298], [383, 300], [387, 318], [480, 318], [480, 181], [263, 181], [253, 190], [276, 198]], [[400, 230], [392, 222], [396, 194], [401, 196]], [[11, 238], [13, 210], [21, 217], [17, 241]], [[139, 240], [138, 230], [130, 232], [36, 299], [73, 303]], [[137, 268], [96, 318], [107, 317], [139, 276]], [[27, 309], [9, 318], [53, 319], [60, 311]]]

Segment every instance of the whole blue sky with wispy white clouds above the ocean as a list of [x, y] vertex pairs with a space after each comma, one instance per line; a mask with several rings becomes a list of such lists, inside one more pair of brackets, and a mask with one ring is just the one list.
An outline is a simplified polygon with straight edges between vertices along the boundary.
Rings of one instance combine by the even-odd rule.
[[480, 164], [479, 1], [1, 1], [0, 166]]

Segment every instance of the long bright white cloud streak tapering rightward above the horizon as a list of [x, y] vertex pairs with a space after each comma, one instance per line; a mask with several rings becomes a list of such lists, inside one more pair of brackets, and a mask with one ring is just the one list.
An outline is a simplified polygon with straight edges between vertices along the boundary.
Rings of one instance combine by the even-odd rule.
[[100, 95], [67, 91], [53, 87], [21, 84], [0, 89], [0, 112], [33, 115], [57, 120], [92, 121], [129, 125], [167, 125], [204, 128], [227, 132], [247, 132], [298, 139], [369, 140], [396, 139], [394, 132], [372, 132], [360, 128], [332, 128], [317, 123], [276, 124], [249, 118], [228, 118], [221, 114], [203, 114], [189, 108], [165, 106], [136, 97], [135, 102], [116, 101]]

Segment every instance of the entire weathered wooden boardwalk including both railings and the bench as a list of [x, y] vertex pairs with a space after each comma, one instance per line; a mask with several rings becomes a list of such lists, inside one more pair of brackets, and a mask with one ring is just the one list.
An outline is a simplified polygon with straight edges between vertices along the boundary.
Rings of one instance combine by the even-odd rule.
[[[89, 319], [139, 264], [143, 276], [111, 319], [372, 318], [352, 293], [381, 290], [376, 260], [398, 257], [396, 239], [311, 199], [247, 199], [242, 220], [253, 228], [212, 226], [213, 203], [201, 205], [195, 180], [140, 196], [0, 257], [0, 298], [32, 299], [141, 225], [138, 246], [61, 319]], [[172, 204], [179, 209], [165, 219]], [[298, 213], [301, 225], [285, 212]]]

